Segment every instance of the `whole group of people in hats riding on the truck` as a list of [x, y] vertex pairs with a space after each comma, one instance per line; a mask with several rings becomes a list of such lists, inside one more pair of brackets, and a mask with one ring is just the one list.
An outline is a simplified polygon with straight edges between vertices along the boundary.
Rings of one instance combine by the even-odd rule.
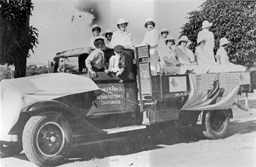
[[[94, 24], [91, 27], [93, 35], [89, 46], [95, 49], [85, 60], [85, 65], [92, 77], [97, 77], [98, 71], [116, 73], [119, 76], [124, 71], [124, 48], [133, 49], [132, 35], [126, 31], [129, 21], [120, 18], [117, 21], [118, 30], [114, 33], [106, 29], [104, 37], [100, 35], [100, 26]], [[201, 31], [197, 35], [197, 48], [195, 54], [189, 49], [192, 43], [188, 37], [182, 36], [174, 39], [165, 28], [161, 31], [154, 29], [156, 22], [147, 18], [144, 22], [147, 29], [142, 45], [150, 45], [150, 58], [143, 58], [143, 62], [150, 62], [151, 74], [156, 75], [159, 69], [167, 75], [184, 73], [218, 73], [229, 71], [245, 71], [245, 67], [229, 62], [225, 48], [230, 43], [227, 38], [220, 40], [220, 48], [214, 56], [214, 35], [210, 31], [211, 22], [203, 21]], [[109, 67], [106, 67], [104, 58], [105, 48], [114, 48], [115, 55], [109, 59]], [[216, 61], [215, 61], [216, 59]]]

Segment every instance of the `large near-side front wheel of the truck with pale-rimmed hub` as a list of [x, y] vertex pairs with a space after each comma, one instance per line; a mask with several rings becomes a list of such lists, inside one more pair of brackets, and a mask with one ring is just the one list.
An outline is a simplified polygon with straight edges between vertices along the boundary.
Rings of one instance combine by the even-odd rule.
[[23, 131], [23, 149], [38, 166], [55, 166], [66, 159], [72, 144], [72, 130], [59, 113], [33, 116]]

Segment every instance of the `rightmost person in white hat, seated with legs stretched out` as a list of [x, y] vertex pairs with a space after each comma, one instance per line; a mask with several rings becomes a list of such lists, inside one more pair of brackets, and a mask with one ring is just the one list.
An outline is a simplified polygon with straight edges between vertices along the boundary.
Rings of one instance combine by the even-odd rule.
[[227, 48], [229, 41], [227, 41], [227, 38], [221, 38], [220, 40], [220, 48], [217, 50], [216, 58], [224, 67], [227, 67], [228, 71], [245, 71], [246, 68], [242, 65], [237, 65], [229, 62], [229, 56], [227, 56], [227, 52], [225, 48]]

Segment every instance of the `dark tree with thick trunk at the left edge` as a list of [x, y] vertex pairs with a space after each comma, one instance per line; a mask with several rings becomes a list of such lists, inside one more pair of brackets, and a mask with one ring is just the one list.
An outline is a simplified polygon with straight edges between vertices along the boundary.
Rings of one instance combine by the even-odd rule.
[[0, 0], [0, 64], [14, 64], [14, 77], [25, 77], [29, 51], [38, 44], [38, 30], [29, 26], [31, 1]]

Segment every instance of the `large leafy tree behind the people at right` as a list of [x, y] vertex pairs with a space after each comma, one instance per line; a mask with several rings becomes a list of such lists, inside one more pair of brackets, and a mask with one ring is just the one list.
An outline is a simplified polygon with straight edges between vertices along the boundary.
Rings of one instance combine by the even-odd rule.
[[188, 22], [182, 26], [181, 35], [186, 35], [193, 42], [191, 47], [195, 51], [203, 20], [213, 22], [214, 54], [219, 48], [219, 40], [226, 37], [231, 41], [227, 50], [229, 60], [249, 67], [256, 57], [255, 9], [255, 1], [205, 1], [200, 10], [188, 13]]

